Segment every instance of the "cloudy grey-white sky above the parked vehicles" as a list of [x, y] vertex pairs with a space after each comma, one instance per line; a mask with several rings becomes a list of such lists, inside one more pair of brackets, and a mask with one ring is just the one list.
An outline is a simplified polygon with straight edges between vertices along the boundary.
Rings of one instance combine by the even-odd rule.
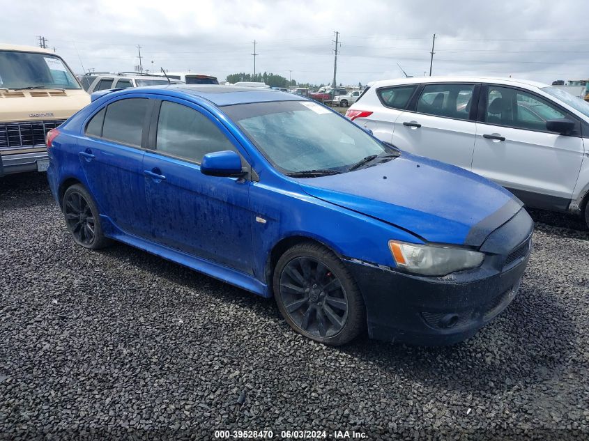
[[[586, 0], [1, 0], [0, 42], [38, 45], [37, 36], [84, 68], [144, 68], [216, 75], [274, 72], [300, 82], [333, 75], [333, 31], [341, 33], [337, 82], [429, 72], [552, 82], [589, 77]], [[43, 6], [41, 6], [43, 5]], [[10, 17], [10, 18], [8, 18]]]

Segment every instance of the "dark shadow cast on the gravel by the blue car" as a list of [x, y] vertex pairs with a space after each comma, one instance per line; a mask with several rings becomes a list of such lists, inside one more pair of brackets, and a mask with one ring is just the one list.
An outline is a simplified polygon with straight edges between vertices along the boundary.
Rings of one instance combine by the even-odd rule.
[[[238, 303], [251, 309], [252, 316], [289, 329], [273, 301], [127, 245], [116, 244], [100, 253], [121, 263], [132, 261], [154, 277], [204, 290], [222, 302]], [[574, 350], [576, 332], [551, 287], [524, 278], [510, 307], [463, 343], [428, 348], [373, 341], [364, 335], [347, 346], [325, 350], [342, 351], [362, 364], [378, 366], [389, 378], [404, 376], [448, 390], [498, 392], [562, 375], [563, 360]], [[277, 334], [276, 338], [284, 337]]]

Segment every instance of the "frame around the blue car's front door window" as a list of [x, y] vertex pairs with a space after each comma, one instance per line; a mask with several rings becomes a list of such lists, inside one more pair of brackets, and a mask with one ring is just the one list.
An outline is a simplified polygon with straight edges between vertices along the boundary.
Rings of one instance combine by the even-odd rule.
[[[166, 97], [169, 98], [169, 97]], [[169, 153], [165, 153], [162, 152], [161, 150], [157, 149], [157, 140], [158, 140], [158, 122], [160, 120], [160, 109], [162, 108], [162, 102], [164, 101], [169, 101], [169, 102], [173, 102], [175, 104], [178, 105], [183, 105], [185, 107], [188, 107], [189, 109], [192, 109], [194, 111], [199, 112], [200, 114], [202, 114], [205, 118], [208, 118], [209, 121], [211, 121], [215, 127], [217, 127], [217, 129], [223, 134], [224, 137], [227, 137], [227, 139], [229, 140], [229, 142], [231, 142], [231, 144], [234, 145], [234, 147], [237, 150], [238, 155], [240, 155], [242, 162], [245, 162], [246, 164], [246, 168], [248, 173], [250, 173], [250, 180], [259, 180], [259, 178], [257, 178], [257, 173], [254, 171], [254, 169], [252, 169], [252, 166], [250, 165], [250, 158], [249, 155], [247, 155], [247, 150], [245, 150], [245, 148], [239, 143], [239, 141], [233, 136], [233, 134], [231, 134], [231, 132], [229, 132], [229, 130], [227, 130], [227, 127], [224, 127], [224, 125], [222, 125], [222, 123], [220, 123], [220, 121], [217, 120], [217, 118], [215, 118], [215, 116], [213, 114], [211, 114], [211, 112], [209, 112], [207, 109], [205, 109], [204, 107], [201, 107], [199, 105], [197, 105], [194, 102], [190, 102], [190, 101], [185, 101], [179, 98], [176, 99], [162, 99], [162, 98], [158, 98], [153, 105], [153, 111], [151, 114], [151, 118], [148, 118], [148, 140], [146, 142], [146, 150], [150, 151], [151, 153], [155, 153], [156, 155], [162, 155], [165, 157], [171, 157], [174, 158], [175, 160], [180, 160], [183, 162], [188, 162], [189, 164], [196, 164], [200, 167], [201, 162], [197, 162], [194, 160], [190, 160], [186, 157], [179, 157], [176, 155], [171, 155]], [[226, 133], [227, 132], [227, 133]]]

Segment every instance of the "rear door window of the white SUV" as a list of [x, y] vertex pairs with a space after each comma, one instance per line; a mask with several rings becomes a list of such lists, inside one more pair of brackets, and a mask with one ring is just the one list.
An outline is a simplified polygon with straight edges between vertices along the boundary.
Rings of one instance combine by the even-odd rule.
[[427, 84], [418, 100], [419, 114], [468, 119], [474, 84]]

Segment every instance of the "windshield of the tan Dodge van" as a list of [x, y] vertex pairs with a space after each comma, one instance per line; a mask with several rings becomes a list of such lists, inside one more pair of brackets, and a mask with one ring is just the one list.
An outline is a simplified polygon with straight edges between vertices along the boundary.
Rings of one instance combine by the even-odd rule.
[[58, 56], [0, 51], [0, 88], [81, 88]]

